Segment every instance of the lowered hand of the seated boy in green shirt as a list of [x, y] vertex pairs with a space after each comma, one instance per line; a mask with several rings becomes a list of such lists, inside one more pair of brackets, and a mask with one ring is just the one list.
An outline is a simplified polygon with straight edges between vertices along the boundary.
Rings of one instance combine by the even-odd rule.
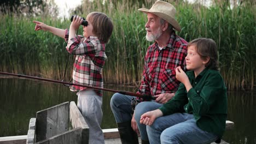
[[158, 117], [161, 117], [162, 115], [163, 115], [162, 111], [160, 111], [159, 109], [154, 111], [149, 111], [141, 115], [141, 120], [139, 122], [145, 125], [152, 125], [155, 119]]

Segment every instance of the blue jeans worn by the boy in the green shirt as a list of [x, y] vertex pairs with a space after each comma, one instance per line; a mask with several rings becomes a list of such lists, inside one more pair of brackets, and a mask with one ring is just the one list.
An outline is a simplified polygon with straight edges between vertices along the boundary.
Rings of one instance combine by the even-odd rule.
[[150, 143], [211, 143], [218, 139], [197, 127], [194, 116], [188, 113], [156, 118], [152, 125], [147, 125], [147, 133]]

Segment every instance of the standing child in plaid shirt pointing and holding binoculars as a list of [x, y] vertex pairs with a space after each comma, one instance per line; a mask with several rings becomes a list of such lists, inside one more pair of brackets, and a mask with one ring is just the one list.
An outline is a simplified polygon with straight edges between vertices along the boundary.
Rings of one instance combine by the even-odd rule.
[[[102, 68], [107, 58], [105, 44], [112, 34], [113, 23], [106, 14], [92, 12], [86, 17], [87, 24], [83, 25], [83, 36], [77, 36], [75, 33], [83, 21], [82, 17], [74, 16], [69, 31], [42, 22], [33, 22], [36, 23], [35, 31], [43, 29], [68, 42], [67, 51], [75, 55], [73, 83], [103, 88]], [[100, 127], [102, 91], [79, 86], [70, 86], [70, 89], [77, 91], [78, 109], [90, 128], [89, 143], [104, 143]]]

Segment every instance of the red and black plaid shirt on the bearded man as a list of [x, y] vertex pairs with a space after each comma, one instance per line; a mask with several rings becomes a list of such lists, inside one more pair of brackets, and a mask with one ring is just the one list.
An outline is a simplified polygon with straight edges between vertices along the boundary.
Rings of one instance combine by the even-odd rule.
[[145, 56], [143, 79], [138, 93], [158, 95], [176, 92], [179, 81], [175, 77], [175, 69], [178, 66], [185, 69], [187, 44], [187, 41], [172, 32], [170, 40], [162, 50], [156, 42], [150, 45]]

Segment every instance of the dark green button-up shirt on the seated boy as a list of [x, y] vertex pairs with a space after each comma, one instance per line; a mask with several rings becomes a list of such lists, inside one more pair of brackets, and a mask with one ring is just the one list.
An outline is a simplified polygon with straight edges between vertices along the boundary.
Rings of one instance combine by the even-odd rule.
[[188, 92], [183, 83], [175, 96], [159, 109], [164, 115], [187, 112], [194, 115], [197, 127], [218, 135], [225, 131], [227, 116], [226, 87], [219, 71], [205, 69], [197, 77], [187, 71], [193, 88]]

